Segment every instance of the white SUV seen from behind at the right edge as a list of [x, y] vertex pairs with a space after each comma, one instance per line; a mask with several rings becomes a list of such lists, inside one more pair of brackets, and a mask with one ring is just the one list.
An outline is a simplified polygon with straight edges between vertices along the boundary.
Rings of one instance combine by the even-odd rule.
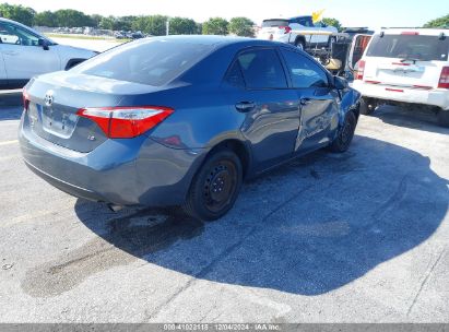
[[430, 106], [449, 126], [449, 29], [388, 28], [376, 33], [358, 62], [353, 87], [361, 112], [381, 102]]

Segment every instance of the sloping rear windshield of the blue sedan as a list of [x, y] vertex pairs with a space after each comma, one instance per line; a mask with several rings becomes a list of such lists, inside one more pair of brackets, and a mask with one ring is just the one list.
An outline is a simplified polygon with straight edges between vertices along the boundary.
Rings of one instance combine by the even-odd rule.
[[87, 60], [71, 71], [147, 85], [164, 85], [203, 59], [213, 45], [142, 39]]

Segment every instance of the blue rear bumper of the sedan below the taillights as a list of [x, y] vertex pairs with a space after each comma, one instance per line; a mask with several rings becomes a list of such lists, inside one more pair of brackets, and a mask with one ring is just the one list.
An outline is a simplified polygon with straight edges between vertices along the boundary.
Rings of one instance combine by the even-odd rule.
[[54, 187], [92, 201], [181, 204], [203, 158], [202, 151], [167, 147], [145, 135], [107, 140], [90, 153], [79, 153], [37, 137], [26, 121], [21, 121], [19, 134], [26, 165]]

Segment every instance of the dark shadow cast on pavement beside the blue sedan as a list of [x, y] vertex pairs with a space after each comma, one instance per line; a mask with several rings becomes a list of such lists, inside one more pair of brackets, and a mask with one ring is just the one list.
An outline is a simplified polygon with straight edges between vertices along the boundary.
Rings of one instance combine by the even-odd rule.
[[[319, 295], [342, 287], [425, 241], [448, 212], [448, 181], [416, 152], [356, 137], [246, 183], [214, 223], [146, 209], [79, 218], [135, 258], [196, 278]], [[109, 217], [109, 220], [108, 220]], [[117, 249], [115, 249], [117, 250]]]

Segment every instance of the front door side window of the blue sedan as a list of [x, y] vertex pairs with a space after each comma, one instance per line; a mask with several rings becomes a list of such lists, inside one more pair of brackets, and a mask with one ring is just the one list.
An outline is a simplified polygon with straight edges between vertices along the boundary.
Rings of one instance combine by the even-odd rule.
[[293, 87], [326, 87], [329, 85], [328, 75], [312, 60], [290, 50], [282, 50], [288, 71], [292, 76]]

